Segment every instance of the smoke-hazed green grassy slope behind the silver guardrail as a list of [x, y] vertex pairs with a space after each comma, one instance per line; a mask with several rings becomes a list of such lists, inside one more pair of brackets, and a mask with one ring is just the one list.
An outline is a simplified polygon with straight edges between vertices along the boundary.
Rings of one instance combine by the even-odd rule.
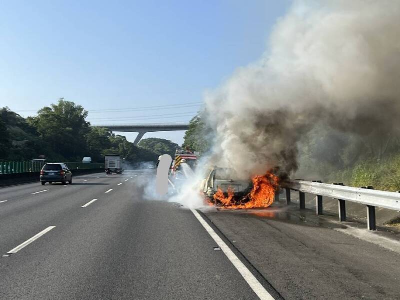
[[316, 128], [298, 149], [300, 168], [296, 177], [400, 190], [400, 140], [396, 136], [361, 136]]

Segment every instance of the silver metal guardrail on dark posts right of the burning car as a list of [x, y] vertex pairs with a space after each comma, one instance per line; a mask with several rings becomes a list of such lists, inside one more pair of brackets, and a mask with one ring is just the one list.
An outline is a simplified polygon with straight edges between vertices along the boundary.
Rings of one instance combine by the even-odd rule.
[[374, 190], [371, 186], [349, 187], [342, 183], [322, 183], [317, 181], [287, 180], [281, 183], [286, 190], [286, 204], [290, 203], [290, 190], [299, 192], [300, 209], [305, 208], [304, 193], [314, 194], [316, 213], [322, 214], [322, 197], [338, 200], [339, 220], [346, 220], [345, 201], [366, 205], [368, 229], [376, 229], [375, 206], [400, 211], [400, 193]]

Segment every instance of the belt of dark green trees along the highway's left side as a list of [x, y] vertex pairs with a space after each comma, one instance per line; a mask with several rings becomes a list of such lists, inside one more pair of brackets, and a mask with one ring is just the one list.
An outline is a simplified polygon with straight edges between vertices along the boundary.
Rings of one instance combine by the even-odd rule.
[[137, 163], [156, 161], [160, 151], [169, 153], [177, 147], [164, 139], [145, 139], [144, 147], [135, 147], [124, 136], [90, 127], [86, 116], [80, 105], [63, 98], [26, 119], [7, 107], [1, 108], [0, 160], [29, 161], [42, 155], [49, 161], [81, 161], [83, 156], [90, 156], [93, 162], [102, 162], [105, 154], [116, 153]]

